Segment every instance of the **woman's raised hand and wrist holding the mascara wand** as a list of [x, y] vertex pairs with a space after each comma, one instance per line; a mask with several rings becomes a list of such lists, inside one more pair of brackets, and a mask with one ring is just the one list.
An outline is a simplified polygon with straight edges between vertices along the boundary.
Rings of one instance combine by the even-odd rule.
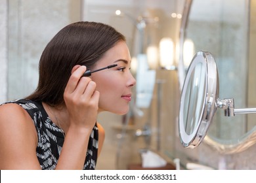
[[98, 111], [100, 93], [96, 83], [89, 77], [82, 77], [86, 67], [75, 65], [64, 91], [64, 101], [70, 115], [70, 127], [93, 129]]

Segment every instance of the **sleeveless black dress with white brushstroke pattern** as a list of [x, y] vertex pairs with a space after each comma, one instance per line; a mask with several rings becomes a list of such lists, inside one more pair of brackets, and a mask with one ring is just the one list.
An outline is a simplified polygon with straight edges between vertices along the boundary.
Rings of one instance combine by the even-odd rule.
[[[35, 129], [37, 130], [38, 143], [36, 148], [37, 159], [43, 170], [53, 170], [56, 168], [64, 143], [64, 131], [55, 125], [42, 103], [28, 99], [19, 99], [8, 103], [16, 103], [23, 107], [30, 114]], [[83, 169], [94, 170], [96, 167], [98, 152], [98, 127], [95, 124], [89, 138], [87, 154]]]

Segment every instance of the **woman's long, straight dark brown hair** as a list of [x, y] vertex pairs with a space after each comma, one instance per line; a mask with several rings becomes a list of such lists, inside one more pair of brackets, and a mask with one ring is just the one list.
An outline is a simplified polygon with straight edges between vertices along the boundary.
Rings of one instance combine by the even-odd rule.
[[37, 89], [26, 97], [51, 106], [64, 103], [64, 89], [75, 65], [92, 69], [106, 51], [125, 37], [110, 25], [75, 22], [61, 29], [47, 44], [39, 61]]

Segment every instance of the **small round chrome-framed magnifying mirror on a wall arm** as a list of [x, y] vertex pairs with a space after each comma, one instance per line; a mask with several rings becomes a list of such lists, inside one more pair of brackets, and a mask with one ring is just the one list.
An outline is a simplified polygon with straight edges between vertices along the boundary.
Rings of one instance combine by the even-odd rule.
[[198, 52], [186, 74], [181, 93], [179, 135], [184, 147], [202, 142], [217, 110], [218, 71], [209, 52]]

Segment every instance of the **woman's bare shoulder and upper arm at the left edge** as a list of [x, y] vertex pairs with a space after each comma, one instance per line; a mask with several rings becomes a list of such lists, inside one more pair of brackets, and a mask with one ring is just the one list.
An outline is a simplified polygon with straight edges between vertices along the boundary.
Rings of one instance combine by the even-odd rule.
[[36, 146], [37, 132], [28, 112], [14, 103], [1, 105], [0, 169], [37, 169]]

